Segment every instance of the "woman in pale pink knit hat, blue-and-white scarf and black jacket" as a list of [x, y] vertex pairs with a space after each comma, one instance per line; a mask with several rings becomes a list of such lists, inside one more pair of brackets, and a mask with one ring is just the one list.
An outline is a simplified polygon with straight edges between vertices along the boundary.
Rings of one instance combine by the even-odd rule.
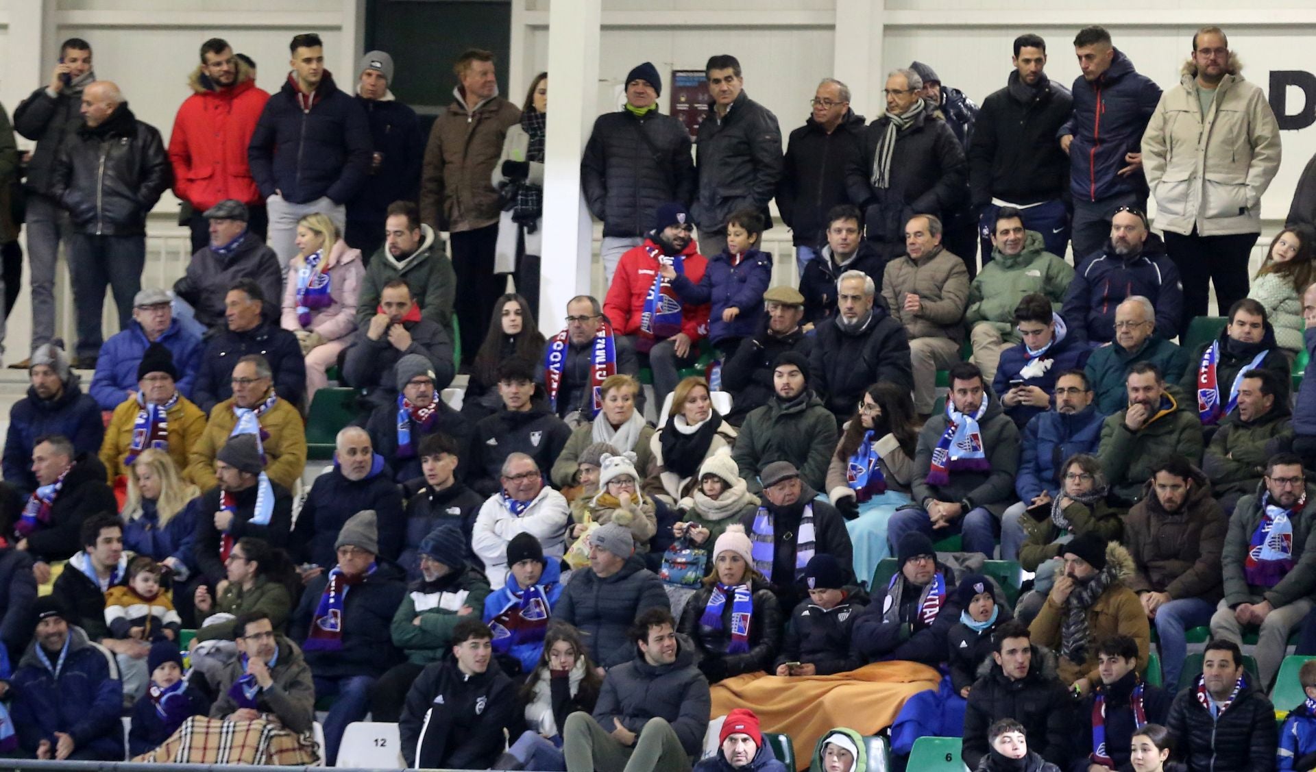
[[754, 569], [753, 548], [740, 523], [717, 537], [713, 572], [691, 596], [676, 626], [695, 644], [699, 671], [711, 684], [771, 669], [782, 646], [786, 621], [776, 596]]

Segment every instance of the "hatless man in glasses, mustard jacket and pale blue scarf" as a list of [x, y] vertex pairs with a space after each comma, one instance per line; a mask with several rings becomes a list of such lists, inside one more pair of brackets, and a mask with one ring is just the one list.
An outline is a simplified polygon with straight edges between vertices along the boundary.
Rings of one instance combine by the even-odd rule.
[[[291, 491], [307, 466], [301, 414], [274, 391], [270, 364], [259, 354], [238, 359], [232, 380], [233, 396], [211, 410], [211, 422], [188, 455], [186, 476], [203, 492], [211, 491], [218, 477], [215, 460], [220, 450], [237, 434], [253, 434], [259, 435], [257, 447], [265, 472], [255, 470], [251, 473], [267, 473]], [[207, 510], [211, 512], [215, 510]]]

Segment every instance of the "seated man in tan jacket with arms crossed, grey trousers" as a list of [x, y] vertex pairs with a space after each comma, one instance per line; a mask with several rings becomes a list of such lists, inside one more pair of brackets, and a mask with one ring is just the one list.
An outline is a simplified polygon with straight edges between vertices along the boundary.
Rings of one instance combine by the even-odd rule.
[[909, 337], [913, 406], [926, 417], [937, 398], [937, 371], [959, 362], [969, 305], [969, 271], [941, 246], [941, 220], [932, 214], [909, 218], [905, 254], [887, 263], [882, 299]]

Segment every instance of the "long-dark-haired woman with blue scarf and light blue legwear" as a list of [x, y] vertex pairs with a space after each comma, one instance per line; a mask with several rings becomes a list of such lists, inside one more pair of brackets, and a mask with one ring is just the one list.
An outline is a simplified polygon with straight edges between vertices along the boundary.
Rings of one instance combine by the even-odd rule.
[[909, 504], [917, 445], [909, 391], [891, 383], [870, 385], [841, 431], [826, 471], [828, 497], [848, 521], [859, 577], [873, 576], [891, 552], [887, 521]]

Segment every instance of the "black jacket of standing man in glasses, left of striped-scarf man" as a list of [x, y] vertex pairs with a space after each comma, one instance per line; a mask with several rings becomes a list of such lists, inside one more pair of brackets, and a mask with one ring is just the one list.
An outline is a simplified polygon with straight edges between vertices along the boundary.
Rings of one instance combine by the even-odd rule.
[[[863, 116], [846, 110], [830, 134], [809, 116], [804, 125], [791, 132], [782, 164], [782, 181], [776, 185], [776, 208], [782, 222], [791, 229], [795, 246], [826, 243], [826, 213], [837, 204], [848, 204], [845, 170], [859, 155], [863, 139]], [[808, 297], [808, 296], [805, 296]]]

